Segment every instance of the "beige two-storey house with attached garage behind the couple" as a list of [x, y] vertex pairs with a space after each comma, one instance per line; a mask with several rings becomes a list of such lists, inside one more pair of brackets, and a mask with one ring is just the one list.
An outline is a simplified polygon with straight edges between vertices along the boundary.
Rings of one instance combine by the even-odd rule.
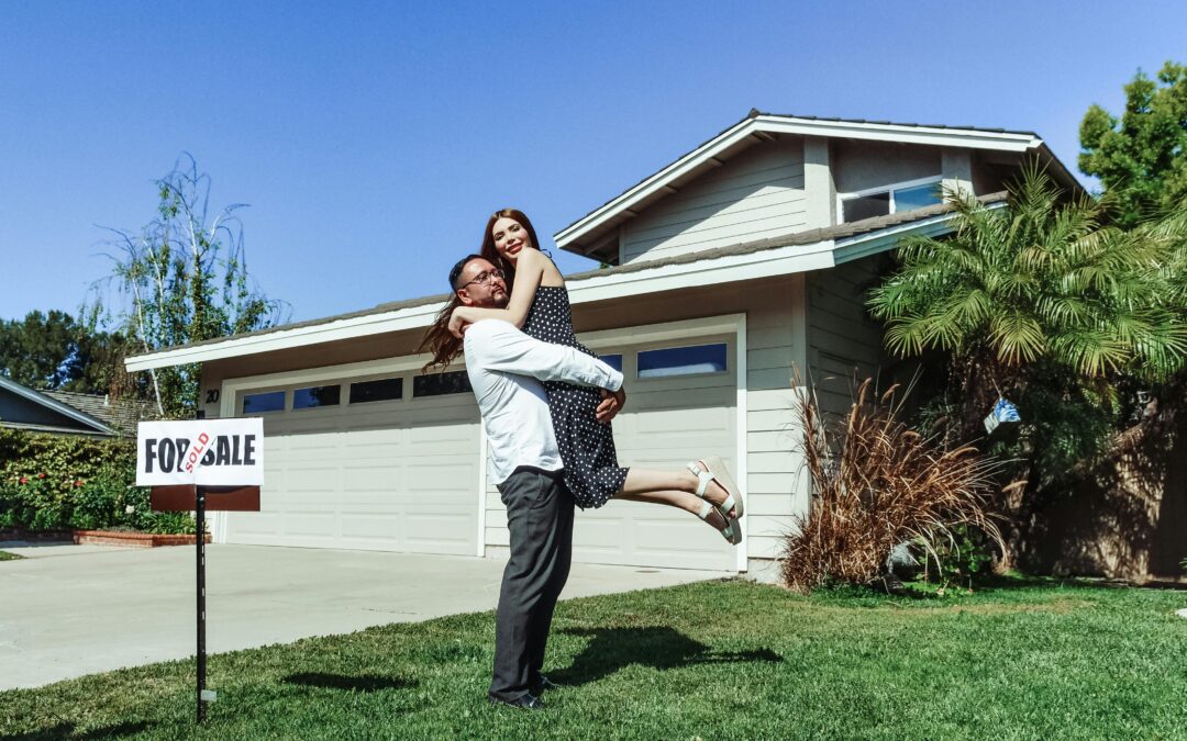
[[[863, 298], [880, 254], [950, 230], [940, 187], [1004, 203], [1029, 159], [1078, 187], [1030, 132], [751, 111], [558, 231], [560, 249], [610, 266], [567, 281], [580, 339], [627, 377], [621, 461], [717, 454], [747, 491], [736, 549], [686, 513], [615, 502], [578, 515], [575, 558], [769, 570], [808, 509], [799, 384], [812, 378], [842, 411], [845, 379], [881, 363]], [[218, 542], [506, 552], [464, 373], [421, 376], [414, 354], [444, 299], [127, 360], [129, 371], [201, 363], [208, 417], [264, 417], [262, 511], [220, 513]]]

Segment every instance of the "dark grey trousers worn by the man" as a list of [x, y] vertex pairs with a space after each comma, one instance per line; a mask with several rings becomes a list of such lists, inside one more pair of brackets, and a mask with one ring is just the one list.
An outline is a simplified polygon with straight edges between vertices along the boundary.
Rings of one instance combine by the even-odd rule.
[[561, 472], [521, 466], [499, 486], [512, 556], [495, 619], [490, 697], [510, 701], [540, 681], [552, 611], [573, 555], [573, 498]]

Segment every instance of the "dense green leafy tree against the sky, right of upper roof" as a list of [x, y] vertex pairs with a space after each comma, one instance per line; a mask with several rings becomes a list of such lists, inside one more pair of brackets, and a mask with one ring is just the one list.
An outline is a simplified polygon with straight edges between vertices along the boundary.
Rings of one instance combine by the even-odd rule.
[[1178, 207], [1187, 197], [1187, 66], [1167, 62], [1155, 79], [1138, 71], [1121, 119], [1088, 108], [1079, 165], [1117, 198], [1122, 226]]

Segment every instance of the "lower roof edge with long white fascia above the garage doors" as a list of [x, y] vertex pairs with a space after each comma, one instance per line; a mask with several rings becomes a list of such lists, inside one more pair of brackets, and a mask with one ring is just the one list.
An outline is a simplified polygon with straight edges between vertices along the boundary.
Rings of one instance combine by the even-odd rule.
[[[1005, 203], [1005, 193], [982, 196], [990, 206]], [[948, 231], [952, 206], [925, 209], [838, 224], [827, 229], [792, 232], [785, 237], [743, 242], [664, 260], [631, 262], [585, 270], [565, 277], [573, 304], [686, 287], [696, 274], [703, 283], [729, 282], [831, 268], [894, 247], [906, 234], [938, 235]], [[349, 339], [426, 327], [450, 294], [381, 304], [369, 309], [287, 324], [234, 337], [203, 340], [129, 357], [129, 371], [203, 363], [323, 341]]]

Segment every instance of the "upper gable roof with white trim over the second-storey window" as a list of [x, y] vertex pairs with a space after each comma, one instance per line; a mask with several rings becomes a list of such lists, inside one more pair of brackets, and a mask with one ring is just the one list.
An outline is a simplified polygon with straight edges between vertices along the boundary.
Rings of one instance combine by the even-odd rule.
[[750, 113], [734, 126], [702, 142], [659, 172], [640, 180], [554, 234], [557, 247], [578, 255], [590, 256], [604, 242], [615, 238], [620, 224], [634, 218], [643, 209], [678, 192], [706, 172], [721, 167], [725, 160], [755, 145], [773, 141], [774, 136], [780, 134], [1014, 153], [1034, 152], [1040, 161], [1052, 168], [1058, 181], [1066, 187], [1080, 189], [1072, 173], [1064, 167], [1062, 162], [1034, 132], [972, 126], [895, 123], [864, 119], [824, 119], [794, 114], [770, 114], [750, 109]]

